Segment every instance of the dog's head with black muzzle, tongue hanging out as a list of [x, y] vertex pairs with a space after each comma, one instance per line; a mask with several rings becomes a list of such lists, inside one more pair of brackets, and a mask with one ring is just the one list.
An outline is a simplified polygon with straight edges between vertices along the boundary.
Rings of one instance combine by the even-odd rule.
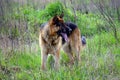
[[65, 41], [68, 41], [68, 36], [66, 32], [70, 31], [71, 29], [65, 24], [63, 16], [63, 14], [61, 14], [60, 16], [54, 16], [50, 20], [50, 31], [52, 35], [59, 35]]

